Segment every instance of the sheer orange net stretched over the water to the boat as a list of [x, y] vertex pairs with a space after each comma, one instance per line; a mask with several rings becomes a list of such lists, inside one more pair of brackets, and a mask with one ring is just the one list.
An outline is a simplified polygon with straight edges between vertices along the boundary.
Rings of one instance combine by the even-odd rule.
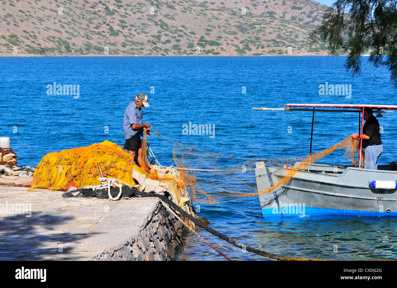
[[[287, 169], [285, 177], [275, 183], [270, 189], [259, 193], [269, 193], [285, 185], [297, 171], [307, 169], [308, 165], [318, 162], [318, 160], [338, 149], [345, 148], [343, 157], [352, 162], [353, 166], [358, 166], [358, 141], [351, 137], [318, 153], [285, 159], [254, 159], [232, 156], [226, 158], [224, 157], [225, 155], [188, 147], [177, 142], [174, 143], [173, 157], [175, 166], [184, 179], [185, 185], [189, 188], [188, 191], [193, 200], [202, 203], [221, 203], [258, 195], [253, 170], [256, 166], [255, 162], [259, 161], [264, 162], [266, 168], [279, 167]], [[242, 159], [245, 161], [241, 162]], [[293, 165], [294, 162], [300, 162], [300, 164]], [[362, 156], [361, 164], [363, 163], [364, 157]], [[224, 167], [220, 167], [221, 165]], [[195, 169], [195, 167], [208, 169]], [[200, 183], [197, 181], [197, 173], [200, 173]], [[202, 173], [213, 173], [212, 178], [215, 181], [206, 181], [208, 176], [202, 176]], [[227, 183], [228, 187], [225, 187], [225, 183]]]

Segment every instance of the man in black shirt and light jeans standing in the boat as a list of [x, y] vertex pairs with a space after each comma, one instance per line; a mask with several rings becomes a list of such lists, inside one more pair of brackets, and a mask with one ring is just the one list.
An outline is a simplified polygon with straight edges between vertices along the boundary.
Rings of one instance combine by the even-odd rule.
[[[362, 148], [364, 148], [364, 168], [378, 169], [378, 158], [382, 154], [383, 145], [380, 140], [380, 127], [378, 119], [373, 115], [372, 108], [364, 108], [365, 124], [362, 128]], [[351, 134], [353, 139], [360, 137], [358, 134]]]

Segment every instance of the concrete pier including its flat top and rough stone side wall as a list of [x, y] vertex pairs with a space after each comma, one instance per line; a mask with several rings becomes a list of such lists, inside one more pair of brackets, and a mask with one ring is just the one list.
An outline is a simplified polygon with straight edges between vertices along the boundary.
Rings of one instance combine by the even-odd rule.
[[185, 227], [156, 199], [62, 193], [0, 186], [0, 260], [172, 260], [181, 248]]

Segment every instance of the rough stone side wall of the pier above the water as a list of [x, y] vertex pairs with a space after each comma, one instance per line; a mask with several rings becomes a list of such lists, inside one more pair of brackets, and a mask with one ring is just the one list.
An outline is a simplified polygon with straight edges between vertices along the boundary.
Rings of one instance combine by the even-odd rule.
[[92, 260], [173, 260], [182, 248], [186, 232], [187, 228], [158, 202], [136, 238], [132, 238], [123, 247], [105, 251]]

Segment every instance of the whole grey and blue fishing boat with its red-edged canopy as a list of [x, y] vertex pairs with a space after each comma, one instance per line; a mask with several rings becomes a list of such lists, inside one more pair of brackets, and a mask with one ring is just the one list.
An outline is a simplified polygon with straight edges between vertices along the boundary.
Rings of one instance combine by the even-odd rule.
[[[265, 167], [256, 162], [256, 185], [262, 214], [282, 216], [355, 215], [397, 216], [397, 164], [378, 165], [377, 170], [361, 167], [362, 111], [371, 107], [382, 113], [396, 110], [394, 105], [333, 105], [333, 104], [286, 104], [280, 109], [252, 108], [272, 111], [313, 112], [310, 154], [313, 137], [314, 111], [360, 113], [360, 153], [358, 167], [310, 163], [301, 167], [289, 181], [269, 193], [270, 189], [291, 172], [290, 168]], [[326, 109], [324, 109], [326, 108]], [[338, 110], [335, 110], [337, 108]], [[340, 110], [342, 109], [342, 110]], [[384, 110], [384, 111], [382, 111]], [[360, 116], [362, 115], [362, 116]], [[382, 116], [383, 117], [383, 116]], [[301, 162], [295, 162], [293, 168]]]

